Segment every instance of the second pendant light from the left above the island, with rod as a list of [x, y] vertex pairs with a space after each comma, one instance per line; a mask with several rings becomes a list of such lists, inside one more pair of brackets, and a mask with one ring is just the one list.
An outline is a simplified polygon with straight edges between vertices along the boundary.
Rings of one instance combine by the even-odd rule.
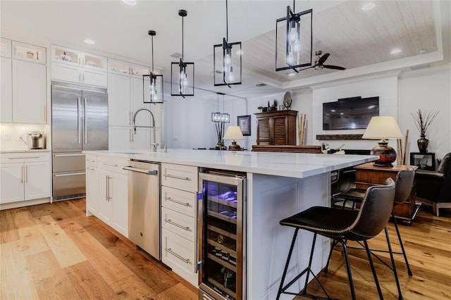
[[171, 63], [171, 96], [194, 96], [194, 63], [183, 61], [183, 18], [188, 13], [184, 9], [178, 11], [182, 17], [182, 56], [180, 61]]

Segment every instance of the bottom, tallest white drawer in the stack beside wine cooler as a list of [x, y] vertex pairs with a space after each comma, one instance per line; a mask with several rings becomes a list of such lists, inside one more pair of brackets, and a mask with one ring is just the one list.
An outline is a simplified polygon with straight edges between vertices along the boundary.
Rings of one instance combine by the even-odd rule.
[[194, 243], [164, 228], [161, 230], [161, 256], [163, 263], [185, 279], [190, 280], [195, 273]]

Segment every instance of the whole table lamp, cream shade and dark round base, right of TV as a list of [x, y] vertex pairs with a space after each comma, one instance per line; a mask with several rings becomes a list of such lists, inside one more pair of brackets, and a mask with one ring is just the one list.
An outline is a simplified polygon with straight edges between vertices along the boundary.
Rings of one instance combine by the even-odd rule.
[[394, 117], [390, 115], [381, 115], [372, 117], [364, 132], [362, 139], [381, 139], [378, 146], [370, 151], [370, 155], [378, 155], [379, 159], [374, 161], [376, 167], [393, 167], [396, 161], [396, 151], [388, 146], [390, 138], [402, 138], [400, 127], [397, 125]]

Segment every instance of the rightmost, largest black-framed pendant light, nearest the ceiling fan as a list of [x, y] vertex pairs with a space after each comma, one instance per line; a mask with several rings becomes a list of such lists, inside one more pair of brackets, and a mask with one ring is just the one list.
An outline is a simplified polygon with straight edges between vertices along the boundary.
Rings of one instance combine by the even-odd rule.
[[[276, 20], [276, 71], [311, 65], [313, 10], [295, 13], [287, 6], [286, 17]], [[310, 36], [310, 38], [309, 38]]]

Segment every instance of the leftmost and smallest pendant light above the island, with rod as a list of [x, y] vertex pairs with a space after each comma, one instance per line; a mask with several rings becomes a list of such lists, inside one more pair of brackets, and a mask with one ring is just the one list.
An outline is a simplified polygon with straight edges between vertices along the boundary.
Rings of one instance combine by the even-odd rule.
[[[142, 75], [142, 99], [144, 103], [163, 103], [163, 75], [156, 75], [154, 71], [154, 36], [156, 31], [149, 30], [147, 33], [152, 39], [152, 71], [149, 75]], [[146, 93], [149, 93], [150, 96], [146, 97]]]

